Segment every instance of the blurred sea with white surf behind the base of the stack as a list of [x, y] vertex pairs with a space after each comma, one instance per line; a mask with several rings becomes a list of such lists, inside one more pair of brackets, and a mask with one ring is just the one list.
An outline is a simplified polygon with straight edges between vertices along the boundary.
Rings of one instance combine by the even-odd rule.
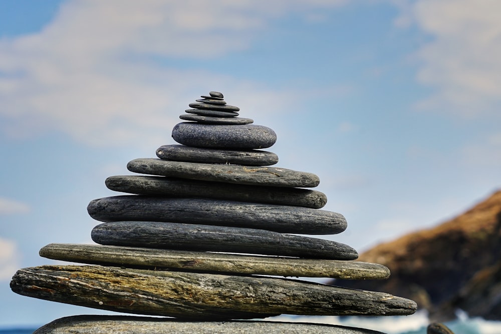
[[[457, 319], [444, 322], [454, 334], [501, 334], [501, 321], [471, 318], [462, 311], [456, 313]], [[417, 311], [407, 316], [292, 316], [281, 315], [267, 320], [310, 323], [329, 323], [344, 326], [378, 330], [386, 334], [426, 334], [429, 323], [426, 311]], [[31, 334], [37, 328], [4, 328], [0, 334]]]

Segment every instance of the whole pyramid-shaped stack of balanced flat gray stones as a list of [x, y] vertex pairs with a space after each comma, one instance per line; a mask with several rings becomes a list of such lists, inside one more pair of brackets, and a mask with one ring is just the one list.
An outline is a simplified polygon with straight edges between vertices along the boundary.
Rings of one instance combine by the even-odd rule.
[[172, 131], [181, 145], [161, 146], [159, 159], [127, 164], [148, 176], [106, 180], [109, 189], [130, 195], [90, 202], [91, 217], [104, 222], [92, 230], [99, 245], [40, 250], [47, 258], [91, 265], [24, 268], [11, 282], [13, 291], [31, 297], [175, 319], [73, 316], [36, 332], [373, 333], [236, 319], [415, 312], [414, 301], [383, 292], [260, 276], [384, 279], [390, 273], [383, 265], [351, 261], [358, 254], [348, 245], [294, 235], [337, 234], [347, 223], [339, 213], [320, 210], [325, 194], [305, 189], [316, 187], [318, 176], [269, 167], [278, 156], [260, 149], [277, 140], [272, 129], [237, 117], [239, 108], [221, 93], [196, 101], [180, 116], [188, 122]]

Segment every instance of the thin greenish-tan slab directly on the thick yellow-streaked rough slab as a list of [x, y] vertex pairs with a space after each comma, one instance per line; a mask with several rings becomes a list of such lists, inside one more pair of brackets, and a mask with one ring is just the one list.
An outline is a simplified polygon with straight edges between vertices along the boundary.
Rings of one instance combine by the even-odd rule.
[[144, 247], [51, 243], [40, 256], [69, 262], [169, 269], [211, 273], [238, 273], [341, 279], [386, 279], [390, 270], [381, 264], [300, 259], [292, 257], [237, 255]]

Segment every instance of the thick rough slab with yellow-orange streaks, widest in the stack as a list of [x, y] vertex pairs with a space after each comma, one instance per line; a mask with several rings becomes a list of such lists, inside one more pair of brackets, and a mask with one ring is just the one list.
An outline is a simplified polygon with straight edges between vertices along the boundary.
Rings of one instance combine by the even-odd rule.
[[414, 301], [388, 293], [258, 276], [46, 265], [20, 269], [14, 292], [112, 311], [197, 318], [269, 314], [406, 315]]

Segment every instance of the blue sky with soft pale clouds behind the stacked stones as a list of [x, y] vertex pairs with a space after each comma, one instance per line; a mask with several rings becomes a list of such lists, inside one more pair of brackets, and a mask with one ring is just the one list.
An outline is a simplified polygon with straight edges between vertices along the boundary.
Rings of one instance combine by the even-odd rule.
[[[104, 180], [224, 94], [320, 177], [362, 252], [501, 188], [497, 0], [0, 2], [0, 326], [97, 310], [20, 296], [51, 242], [92, 243]], [[7, 305], [9, 305], [7, 307]]]

